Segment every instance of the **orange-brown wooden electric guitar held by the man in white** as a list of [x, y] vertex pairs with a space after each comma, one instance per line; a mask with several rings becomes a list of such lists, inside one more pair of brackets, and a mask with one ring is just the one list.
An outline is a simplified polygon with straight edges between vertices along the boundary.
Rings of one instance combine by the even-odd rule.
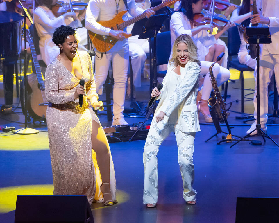
[[[152, 10], [158, 11], [159, 9], [165, 7], [165, 6], [169, 6], [173, 3], [175, 3], [178, 0], [166, 0], [163, 3], [161, 3], [158, 6], [155, 6], [154, 8], [152, 8]], [[124, 21], [122, 19], [123, 15], [126, 13], [127, 11], [122, 11], [119, 12], [113, 19], [109, 20], [109, 21], [99, 21], [98, 23], [101, 24], [102, 26], [105, 26], [107, 28], [110, 28], [112, 30], [123, 30], [124, 28], [126, 28], [127, 26], [130, 26], [131, 24], [143, 19], [146, 17], [146, 12], [143, 12], [142, 14], [138, 15], [137, 17], [134, 17], [132, 19], [129, 19], [128, 21]], [[108, 52], [118, 41], [118, 39], [111, 37], [111, 36], [106, 36], [106, 35], [100, 35], [100, 34], [96, 34], [93, 33], [91, 31], [88, 30], [88, 34], [89, 37], [93, 43], [93, 45], [95, 46], [95, 48], [99, 51], [99, 52]], [[130, 37], [132, 34], [128, 34], [128, 35], [124, 35], [125, 38]]]

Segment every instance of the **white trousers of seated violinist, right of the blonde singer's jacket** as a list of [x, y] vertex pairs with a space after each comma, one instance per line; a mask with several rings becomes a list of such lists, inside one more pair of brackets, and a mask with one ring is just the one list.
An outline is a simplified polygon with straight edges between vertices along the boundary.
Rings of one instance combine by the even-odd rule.
[[[200, 93], [202, 94], [201, 99], [208, 100], [212, 91], [212, 84], [209, 77], [209, 67], [213, 62], [201, 61], [201, 75], [206, 75], [203, 81], [203, 89]], [[214, 77], [216, 78], [217, 85], [220, 86], [230, 78], [230, 71], [219, 64], [215, 64], [212, 68]]]

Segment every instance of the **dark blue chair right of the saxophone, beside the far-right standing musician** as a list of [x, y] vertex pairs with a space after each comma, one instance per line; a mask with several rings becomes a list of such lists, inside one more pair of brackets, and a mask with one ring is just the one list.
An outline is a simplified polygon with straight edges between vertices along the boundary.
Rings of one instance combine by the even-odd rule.
[[[241, 64], [238, 61], [237, 53], [240, 48], [240, 36], [238, 33], [237, 26], [234, 26], [228, 30], [228, 63], [227, 63], [227, 69], [234, 68], [238, 71], [240, 71], [240, 81], [241, 81], [241, 112], [244, 113], [244, 77], [243, 72], [244, 71], [254, 71], [249, 66], [246, 66], [245, 64]], [[228, 90], [228, 81], [225, 85], [225, 93], [224, 93], [224, 99], [226, 101], [227, 96], [227, 90]]]

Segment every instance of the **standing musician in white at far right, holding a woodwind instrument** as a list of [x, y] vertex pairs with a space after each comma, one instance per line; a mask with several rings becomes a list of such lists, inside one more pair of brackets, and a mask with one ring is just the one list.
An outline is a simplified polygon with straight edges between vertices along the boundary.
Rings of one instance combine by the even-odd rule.
[[[268, 112], [268, 84], [270, 78], [275, 74], [276, 86], [279, 92], [279, 0], [257, 0], [258, 13], [253, 15], [251, 23], [259, 23], [259, 26], [268, 26], [271, 33], [270, 44], [260, 44], [260, 114], [257, 114], [257, 84], [254, 93], [254, 118], [256, 121], [252, 124], [247, 134], [256, 128], [257, 115], [260, 115], [261, 128], [267, 130], [267, 112]], [[256, 69], [257, 70], [257, 69]], [[254, 76], [257, 82], [257, 71]], [[251, 135], [257, 134], [254, 131]]]

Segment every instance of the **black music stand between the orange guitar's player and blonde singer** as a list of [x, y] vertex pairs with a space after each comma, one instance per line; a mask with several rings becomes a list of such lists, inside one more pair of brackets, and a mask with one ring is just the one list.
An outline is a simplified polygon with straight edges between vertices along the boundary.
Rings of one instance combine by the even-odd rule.
[[[149, 17], [149, 19], [146, 21], [146, 24], [142, 27], [142, 32], [140, 33], [140, 36], [138, 39], [147, 39], [154, 37], [154, 44], [153, 44], [153, 58], [152, 58], [152, 77], [153, 80], [150, 78], [150, 87], [152, 85], [152, 89], [157, 87], [157, 59], [156, 59], [156, 37], [157, 33], [161, 28], [163, 27], [164, 20], [168, 17], [168, 14], [160, 14], [160, 15], [153, 15]], [[133, 30], [132, 30], [133, 31]], [[151, 44], [149, 44], [151, 47]], [[150, 55], [151, 57], [151, 55]], [[132, 89], [131, 89], [132, 91]], [[142, 125], [137, 129], [137, 131], [133, 134], [133, 136], [129, 139], [129, 141], [132, 141], [133, 137], [137, 134], [138, 131], [140, 131], [140, 128], [144, 125], [144, 123], [149, 119], [149, 116], [152, 112], [155, 111], [155, 103], [150, 106], [144, 121], [142, 122]]]

